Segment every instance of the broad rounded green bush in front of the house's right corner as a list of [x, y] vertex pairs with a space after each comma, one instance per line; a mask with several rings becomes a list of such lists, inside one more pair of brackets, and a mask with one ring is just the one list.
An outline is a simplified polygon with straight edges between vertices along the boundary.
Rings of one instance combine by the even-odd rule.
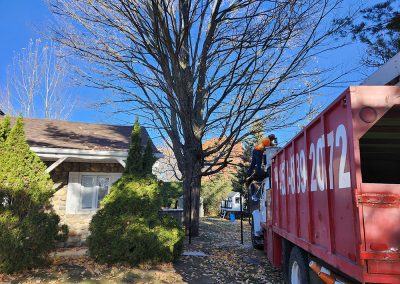
[[169, 262], [183, 250], [184, 232], [158, 211], [160, 184], [153, 177], [123, 176], [90, 223], [91, 257], [100, 263]]

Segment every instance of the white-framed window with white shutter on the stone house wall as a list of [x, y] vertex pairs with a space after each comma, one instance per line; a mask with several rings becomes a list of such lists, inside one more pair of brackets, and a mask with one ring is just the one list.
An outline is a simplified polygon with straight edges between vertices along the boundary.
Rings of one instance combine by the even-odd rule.
[[121, 173], [78, 173], [70, 172], [67, 191], [67, 214], [93, 212], [109, 193], [111, 185]]

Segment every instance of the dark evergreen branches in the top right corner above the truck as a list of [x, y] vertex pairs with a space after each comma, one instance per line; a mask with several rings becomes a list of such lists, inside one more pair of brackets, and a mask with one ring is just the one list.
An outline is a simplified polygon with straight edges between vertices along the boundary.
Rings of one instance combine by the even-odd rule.
[[367, 45], [362, 63], [378, 67], [400, 52], [400, 1], [383, 1], [360, 11], [362, 20], [353, 23], [355, 39]]

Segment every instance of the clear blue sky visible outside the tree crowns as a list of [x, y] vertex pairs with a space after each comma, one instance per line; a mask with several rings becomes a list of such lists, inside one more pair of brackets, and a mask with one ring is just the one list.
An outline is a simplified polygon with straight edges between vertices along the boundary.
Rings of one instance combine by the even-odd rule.
[[[374, 3], [373, 0], [363, 1], [365, 4]], [[348, 7], [360, 3], [359, 0], [346, 0]], [[51, 20], [51, 13], [44, 0], [0, 0], [0, 86], [4, 84], [6, 68], [12, 61], [14, 52], [19, 52], [26, 47], [30, 38], [42, 37], [40, 30], [44, 30]], [[319, 59], [321, 66], [341, 64], [342, 68], [358, 66], [359, 58], [364, 47], [358, 43], [351, 44], [339, 51], [331, 52]], [[353, 72], [346, 79], [354, 81], [354, 84], [362, 81], [371, 70], [362, 68]], [[319, 104], [326, 105], [338, 96], [344, 87], [328, 88], [321, 91], [316, 98]], [[88, 109], [84, 103], [86, 98], [93, 98], [98, 94], [87, 88], [75, 88], [75, 95], [80, 96], [80, 104], [70, 120], [82, 122], [125, 124], [125, 117], [110, 116], [94, 109]], [[282, 131], [282, 139], [287, 141], [293, 135], [293, 130]]]

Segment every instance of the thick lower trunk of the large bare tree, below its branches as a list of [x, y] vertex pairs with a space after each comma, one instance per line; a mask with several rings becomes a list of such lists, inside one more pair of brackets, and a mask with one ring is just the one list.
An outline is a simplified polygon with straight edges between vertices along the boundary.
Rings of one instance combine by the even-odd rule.
[[[201, 154], [200, 154], [201, 155]], [[190, 156], [190, 157], [188, 157]], [[185, 232], [192, 237], [199, 235], [199, 207], [201, 188], [201, 159], [191, 152], [185, 155], [183, 173], [183, 204], [185, 213]]]

